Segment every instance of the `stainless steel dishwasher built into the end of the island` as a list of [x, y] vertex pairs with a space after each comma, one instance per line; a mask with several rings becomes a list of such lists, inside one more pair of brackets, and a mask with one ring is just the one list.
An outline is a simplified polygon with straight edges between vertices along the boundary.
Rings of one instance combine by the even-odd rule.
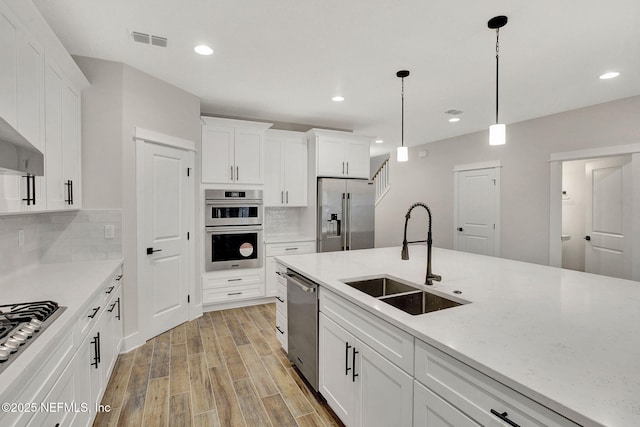
[[287, 270], [289, 360], [318, 391], [318, 285]]

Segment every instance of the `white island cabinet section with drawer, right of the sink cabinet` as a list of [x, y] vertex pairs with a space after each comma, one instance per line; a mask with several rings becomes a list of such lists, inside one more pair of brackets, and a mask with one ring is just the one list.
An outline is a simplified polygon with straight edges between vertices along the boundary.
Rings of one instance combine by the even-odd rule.
[[576, 427], [435, 347], [416, 340], [414, 426]]

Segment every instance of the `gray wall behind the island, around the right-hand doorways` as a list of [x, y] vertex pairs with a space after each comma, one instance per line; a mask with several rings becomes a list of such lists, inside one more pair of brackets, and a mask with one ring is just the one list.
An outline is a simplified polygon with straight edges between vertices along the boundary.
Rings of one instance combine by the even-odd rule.
[[[402, 242], [404, 214], [423, 201], [434, 215], [434, 245], [453, 247], [453, 167], [502, 161], [501, 252], [505, 258], [548, 264], [549, 155], [640, 143], [640, 96], [507, 125], [507, 144], [489, 146], [488, 131], [409, 149], [409, 162], [391, 156], [391, 191], [376, 208], [376, 246]], [[428, 148], [429, 155], [418, 157]], [[411, 239], [424, 222], [412, 215]]]

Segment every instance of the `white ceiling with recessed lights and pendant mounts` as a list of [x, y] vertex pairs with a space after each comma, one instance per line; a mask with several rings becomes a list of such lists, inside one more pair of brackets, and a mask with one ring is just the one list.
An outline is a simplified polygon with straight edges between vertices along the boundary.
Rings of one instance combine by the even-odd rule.
[[[205, 113], [379, 137], [372, 155], [501, 121], [640, 94], [638, 0], [34, 0], [73, 55], [121, 61], [201, 99]], [[134, 43], [140, 31], [167, 48]], [[204, 57], [193, 51], [206, 43]], [[620, 77], [599, 80], [605, 71]], [[341, 94], [342, 103], [331, 101]], [[451, 124], [444, 111], [464, 111]]]

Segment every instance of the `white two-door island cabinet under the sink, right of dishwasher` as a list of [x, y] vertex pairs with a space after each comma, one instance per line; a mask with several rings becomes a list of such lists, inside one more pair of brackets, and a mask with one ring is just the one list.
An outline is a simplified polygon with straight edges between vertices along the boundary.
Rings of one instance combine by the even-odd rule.
[[411, 426], [413, 337], [320, 288], [319, 391], [347, 426]]

